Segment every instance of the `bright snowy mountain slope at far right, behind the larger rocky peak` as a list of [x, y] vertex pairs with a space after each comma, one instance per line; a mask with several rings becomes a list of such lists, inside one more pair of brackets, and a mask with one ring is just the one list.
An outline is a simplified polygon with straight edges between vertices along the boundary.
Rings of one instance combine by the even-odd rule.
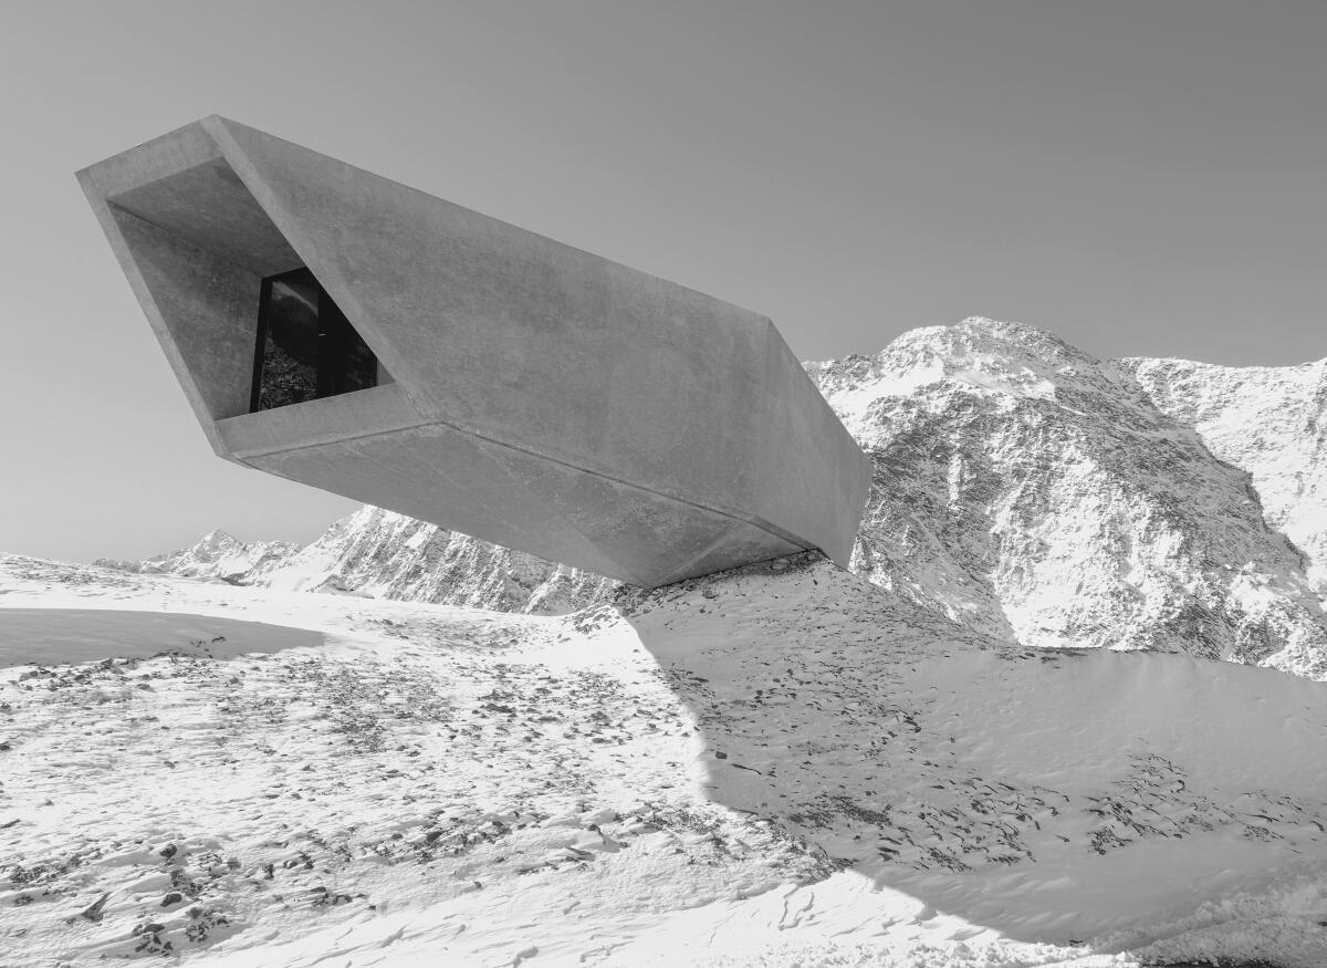
[[1327, 360], [1302, 366], [1214, 366], [1123, 360], [1152, 401], [1246, 470], [1263, 514], [1310, 558], [1327, 591]]

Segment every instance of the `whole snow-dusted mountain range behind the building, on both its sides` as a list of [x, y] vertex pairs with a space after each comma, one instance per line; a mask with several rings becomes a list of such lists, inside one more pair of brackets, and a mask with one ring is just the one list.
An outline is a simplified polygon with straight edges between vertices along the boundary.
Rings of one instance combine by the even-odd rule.
[[[1327, 360], [1097, 360], [969, 319], [805, 366], [876, 466], [852, 560], [872, 583], [1023, 645], [1327, 679]], [[304, 548], [214, 531], [100, 564], [535, 613], [614, 586], [376, 507]]]

